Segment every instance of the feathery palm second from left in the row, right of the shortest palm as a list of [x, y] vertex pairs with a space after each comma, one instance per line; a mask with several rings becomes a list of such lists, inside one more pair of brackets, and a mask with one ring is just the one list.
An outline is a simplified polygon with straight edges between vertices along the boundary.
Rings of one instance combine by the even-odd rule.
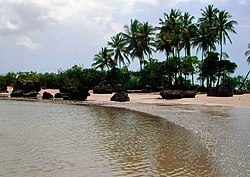
[[130, 60], [126, 54], [126, 41], [124, 36], [120, 33], [116, 34], [111, 38], [111, 41], [108, 42], [108, 45], [114, 50], [114, 60], [116, 63], [119, 63], [119, 68], [121, 68], [122, 64], [127, 67], [127, 64], [130, 64]]

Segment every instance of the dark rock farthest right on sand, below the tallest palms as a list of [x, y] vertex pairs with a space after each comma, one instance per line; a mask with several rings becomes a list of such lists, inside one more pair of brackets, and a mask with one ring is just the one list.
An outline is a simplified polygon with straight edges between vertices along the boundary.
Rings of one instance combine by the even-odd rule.
[[228, 86], [219, 86], [210, 88], [207, 92], [207, 96], [232, 97], [233, 92], [232, 89]]

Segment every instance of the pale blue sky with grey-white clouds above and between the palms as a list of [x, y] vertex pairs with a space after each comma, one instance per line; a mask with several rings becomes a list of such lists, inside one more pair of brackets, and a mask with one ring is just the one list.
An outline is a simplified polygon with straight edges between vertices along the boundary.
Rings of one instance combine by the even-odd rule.
[[[224, 48], [238, 64], [236, 74], [245, 75], [250, 0], [0, 0], [0, 74], [57, 72], [74, 64], [89, 68], [94, 55], [131, 19], [156, 26], [163, 13], [176, 8], [190, 12], [196, 22], [208, 4], [226, 9], [238, 22], [233, 44]], [[138, 68], [134, 61], [130, 69]]]

